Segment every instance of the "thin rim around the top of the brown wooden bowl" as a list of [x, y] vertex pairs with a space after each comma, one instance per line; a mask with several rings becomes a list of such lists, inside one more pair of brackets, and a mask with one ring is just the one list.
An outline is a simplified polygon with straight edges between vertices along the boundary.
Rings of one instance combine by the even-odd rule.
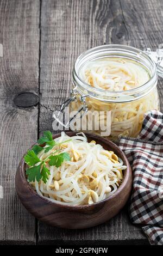
[[[79, 132], [65, 132], [68, 136], [73, 136], [73, 135], [76, 135], [76, 133], [79, 133]], [[121, 154], [123, 156], [123, 163], [124, 163], [124, 160], [126, 162], [126, 166], [127, 166], [127, 169], [125, 170], [125, 173], [124, 173], [124, 177], [123, 177], [123, 180], [122, 180], [122, 183], [120, 185], [120, 187], [118, 187], [117, 191], [112, 194], [110, 197], [107, 197], [97, 203], [93, 203], [93, 204], [85, 204], [85, 205], [63, 205], [63, 204], [59, 204], [59, 203], [55, 203], [55, 202], [51, 202], [50, 200], [46, 199], [46, 198], [43, 198], [41, 197], [33, 188], [32, 186], [30, 186], [29, 182], [27, 181], [27, 178], [26, 178], [26, 174], [25, 174], [25, 165], [26, 163], [24, 162], [24, 159], [22, 157], [22, 161], [21, 161], [21, 176], [23, 178], [23, 180], [25, 181], [25, 183], [27, 184], [27, 188], [30, 192], [32, 192], [33, 194], [35, 194], [35, 196], [39, 197], [40, 199], [44, 200], [47, 204], [54, 204], [54, 205], [57, 205], [57, 206], [60, 206], [60, 208], [65, 208], [65, 209], [87, 209], [87, 208], [90, 208], [92, 207], [92, 205], [96, 206], [96, 205], [99, 205], [99, 204], [102, 204], [102, 203], [105, 203], [105, 202], [108, 202], [109, 200], [111, 200], [112, 198], [114, 197], [117, 197], [121, 191], [123, 190], [124, 186], [126, 186], [127, 182], [128, 182], [128, 176], [129, 176], [129, 169], [130, 169], [130, 164], [127, 160], [127, 157], [126, 155], [123, 153], [123, 151], [113, 142], [109, 141], [108, 139], [105, 139], [101, 136], [97, 136], [97, 135], [93, 135], [93, 134], [89, 134], [89, 133], [84, 133], [86, 137], [91, 137], [91, 138], [94, 138], [94, 139], [98, 139], [99, 141], [105, 143], [105, 144], [110, 144], [112, 148], [115, 148], [119, 151], [121, 151]], [[61, 135], [61, 133], [56, 133], [53, 135], [53, 138], [57, 138]], [[35, 143], [37, 144], [37, 143]], [[35, 145], [34, 144], [34, 145]], [[32, 146], [33, 147], [33, 146]], [[31, 147], [31, 148], [32, 148]], [[30, 149], [31, 149], [30, 148]], [[24, 154], [25, 155], [25, 154]], [[121, 157], [122, 158], [122, 157]], [[22, 169], [23, 169], [23, 172], [22, 172]]]

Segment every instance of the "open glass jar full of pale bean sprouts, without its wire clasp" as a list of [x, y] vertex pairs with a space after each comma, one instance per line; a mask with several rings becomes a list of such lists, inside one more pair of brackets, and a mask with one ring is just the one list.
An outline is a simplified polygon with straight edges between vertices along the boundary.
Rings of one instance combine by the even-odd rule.
[[[79, 111], [83, 105], [81, 95], [89, 111], [110, 111], [111, 140], [136, 137], [143, 115], [159, 109], [156, 64], [137, 48], [124, 45], [92, 48], [77, 58], [72, 80], [79, 95], [77, 101], [71, 101], [70, 111]], [[82, 116], [82, 120], [89, 122], [89, 115]], [[92, 132], [101, 135], [100, 129]]]

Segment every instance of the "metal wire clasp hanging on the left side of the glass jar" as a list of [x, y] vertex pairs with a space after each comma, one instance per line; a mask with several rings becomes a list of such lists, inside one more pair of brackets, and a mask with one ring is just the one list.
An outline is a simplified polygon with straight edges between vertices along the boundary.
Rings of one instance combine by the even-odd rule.
[[[65, 107], [67, 107], [71, 102], [77, 102], [77, 96], [79, 95], [79, 100], [82, 103], [82, 107], [80, 107], [77, 111], [76, 114], [74, 114], [74, 116], [72, 118], [70, 118], [70, 120], [68, 120], [67, 124], [62, 123], [62, 121], [60, 120], [60, 115], [64, 112]], [[62, 126], [69, 128], [71, 123], [73, 123], [76, 119], [78, 119], [78, 114], [80, 113], [79, 118], [82, 118], [84, 114], [86, 114], [87, 112], [87, 106], [86, 106], [86, 101], [85, 101], [85, 97], [87, 97], [89, 95], [84, 95], [82, 93], [80, 93], [77, 90], [77, 87], [75, 87], [74, 89], [71, 90], [70, 92], [70, 98], [68, 98], [64, 103], [62, 103], [62, 106], [60, 108], [60, 111], [58, 112], [57, 116], [54, 114], [53, 117], [54, 119], [61, 124]]]

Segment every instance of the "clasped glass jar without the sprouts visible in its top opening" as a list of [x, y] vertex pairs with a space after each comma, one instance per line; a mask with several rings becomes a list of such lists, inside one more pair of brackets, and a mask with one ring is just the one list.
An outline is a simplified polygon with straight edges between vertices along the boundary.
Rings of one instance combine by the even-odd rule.
[[[79, 71], [86, 62], [106, 57], [125, 58], [143, 66], [150, 77], [148, 82], [140, 87], [118, 92], [91, 87], [80, 78]], [[116, 140], [120, 136], [136, 137], [142, 127], [143, 115], [152, 109], [159, 109], [156, 85], [157, 70], [161, 61], [162, 57], [159, 56], [156, 62], [151, 58], [149, 48], [145, 51], [126, 45], [103, 45], [91, 48], [82, 53], [74, 64], [71, 97], [62, 105], [61, 111], [69, 103], [70, 112], [77, 111], [82, 119], [88, 119], [86, 115], [84, 116], [87, 111], [110, 111], [111, 132], [107, 137], [111, 140]], [[57, 120], [59, 120], [59, 114]], [[72, 117], [64, 126], [70, 126], [76, 117], [77, 115]], [[105, 119], [105, 114], [103, 118]], [[102, 131], [99, 129], [92, 132], [101, 135]]]

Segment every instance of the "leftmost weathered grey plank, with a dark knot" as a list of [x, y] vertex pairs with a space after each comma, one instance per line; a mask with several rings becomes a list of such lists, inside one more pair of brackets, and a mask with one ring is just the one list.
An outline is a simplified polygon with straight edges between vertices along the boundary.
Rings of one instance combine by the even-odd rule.
[[[38, 93], [39, 13], [39, 0], [0, 1], [0, 244], [36, 241], [35, 218], [18, 200], [15, 173], [22, 155], [37, 140], [38, 107], [17, 107], [14, 99], [22, 92]], [[29, 100], [25, 97], [24, 102]]]

